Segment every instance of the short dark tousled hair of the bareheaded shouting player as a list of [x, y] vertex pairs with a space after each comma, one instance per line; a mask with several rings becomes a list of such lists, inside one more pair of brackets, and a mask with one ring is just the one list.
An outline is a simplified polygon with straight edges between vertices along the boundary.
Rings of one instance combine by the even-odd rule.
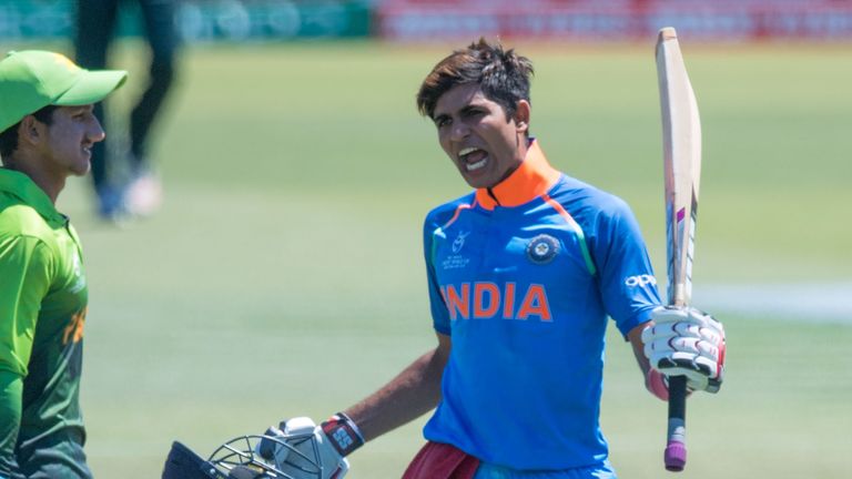
[[503, 106], [509, 120], [518, 101], [530, 101], [532, 74], [532, 62], [528, 58], [518, 55], [514, 49], [504, 50], [499, 41], [489, 43], [480, 38], [432, 69], [417, 92], [417, 109], [420, 114], [433, 118], [440, 95], [460, 84], [479, 83], [485, 98]]

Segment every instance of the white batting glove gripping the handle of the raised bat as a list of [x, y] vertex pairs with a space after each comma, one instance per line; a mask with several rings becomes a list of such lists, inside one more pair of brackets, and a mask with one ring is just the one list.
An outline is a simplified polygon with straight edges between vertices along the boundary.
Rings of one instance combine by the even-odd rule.
[[665, 376], [686, 376], [692, 390], [717, 393], [724, 373], [724, 328], [693, 307], [659, 306], [642, 330], [645, 356]]

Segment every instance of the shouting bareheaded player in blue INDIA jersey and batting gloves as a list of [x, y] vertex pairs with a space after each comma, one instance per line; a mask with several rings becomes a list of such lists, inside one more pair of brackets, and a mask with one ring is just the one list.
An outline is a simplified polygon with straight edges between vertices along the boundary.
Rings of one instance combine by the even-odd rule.
[[323, 477], [436, 408], [405, 479], [615, 478], [598, 421], [608, 317], [656, 396], [667, 398], [667, 375], [719, 389], [721, 324], [662, 307], [628, 205], [550, 165], [529, 135], [531, 74], [527, 58], [480, 40], [423, 82], [419, 111], [475, 188], [425, 221], [438, 345], [315, 428]]

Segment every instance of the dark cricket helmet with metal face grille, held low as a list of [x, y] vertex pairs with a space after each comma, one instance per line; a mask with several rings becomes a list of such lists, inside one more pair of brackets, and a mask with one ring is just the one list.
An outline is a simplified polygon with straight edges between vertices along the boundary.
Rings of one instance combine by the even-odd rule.
[[313, 432], [284, 434], [273, 427], [233, 438], [207, 459], [174, 441], [162, 479], [321, 479], [322, 473]]

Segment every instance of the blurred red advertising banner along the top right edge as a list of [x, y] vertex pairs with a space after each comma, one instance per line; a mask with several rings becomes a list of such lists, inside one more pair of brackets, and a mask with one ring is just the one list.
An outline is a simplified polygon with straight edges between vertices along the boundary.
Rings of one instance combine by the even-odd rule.
[[677, 27], [693, 39], [852, 39], [852, 0], [385, 0], [375, 32], [429, 41], [474, 37], [629, 40]]

